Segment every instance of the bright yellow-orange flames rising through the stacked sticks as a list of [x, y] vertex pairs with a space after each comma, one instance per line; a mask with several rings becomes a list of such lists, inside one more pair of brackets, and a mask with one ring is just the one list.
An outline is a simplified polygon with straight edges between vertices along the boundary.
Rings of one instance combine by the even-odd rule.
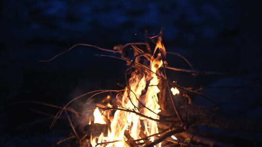
[[[158, 37], [153, 55], [148, 55], [147, 58], [149, 61], [147, 68], [149, 70], [134, 68], [128, 80], [128, 86], [122, 94], [116, 95], [117, 108], [132, 110], [147, 117], [159, 119], [158, 114], [161, 112], [161, 109], [158, 103], [158, 93], [160, 92], [158, 86], [161, 78], [156, 73], [160, 73], [158, 70], [163, 67], [163, 54], [164, 56], [166, 54], [165, 48], [162, 44], [162, 38]], [[135, 59], [135, 62], [139, 62], [139, 60]], [[173, 95], [179, 94], [177, 88], [171, 88], [171, 91]], [[110, 99], [110, 97], [106, 99]], [[108, 103], [107, 106], [112, 105]], [[104, 111], [101, 114], [99, 109], [96, 108], [93, 115], [93, 123], [108, 125], [108, 131], [107, 133], [91, 134], [90, 142], [92, 147], [130, 147], [127, 143], [130, 141], [130, 138], [139, 140], [143, 138], [141, 134], [150, 136], [159, 133], [158, 122], [141, 117], [135, 113], [115, 110], [114, 117], [112, 117], [112, 113], [109, 111]], [[108, 121], [105, 119], [108, 119], [111, 123], [108, 124]], [[151, 136], [148, 139], [153, 142], [157, 137]], [[106, 142], [109, 143], [103, 144]], [[138, 142], [141, 145], [145, 145], [143, 139]], [[161, 147], [161, 143], [154, 147]]]

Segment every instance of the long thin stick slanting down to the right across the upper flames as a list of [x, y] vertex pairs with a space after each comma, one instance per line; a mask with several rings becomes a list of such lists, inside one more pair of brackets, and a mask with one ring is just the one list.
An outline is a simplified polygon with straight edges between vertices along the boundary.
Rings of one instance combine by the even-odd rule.
[[[109, 56], [109, 55], [97, 55], [97, 56], [100, 56], [100, 57], [111, 57], [111, 58], [121, 59], [121, 60], [124, 60], [124, 61], [129, 61], [129, 62], [131, 62], [131, 61], [128, 60], [128, 59], [123, 59], [123, 58], [119, 58], [119, 57], [115, 57], [115, 56]], [[148, 71], [150, 71], [150, 72], [152, 72], [152, 73], [155, 73], [155, 72], [151, 71], [150, 69], [148, 69], [145, 65], [142, 65], [142, 64], [140, 64], [140, 63], [138, 63], [138, 62], [135, 62], [135, 63], [136, 63], [138, 66], [143, 67], [144, 69], [146, 69], [146, 70], [148, 70]], [[182, 86], [180, 86], [180, 85], [178, 85], [178, 84], [173, 83], [172, 81], [167, 80], [166, 78], [164, 78], [163, 76], [161, 76], [161, 75], [159, 75], [159, 74], [157, 74], [157, 73], [155, 73], [155, 74], [156, 74], [158, 77], [164, 79], [165, 81], [168, 81], [168, 83], [171, 84], [172, 86], [177, 87], [177, 88], [179, 88], [179, 89], [182, 89], [182, 90], [184, 90], [184, 91], [186, 91], [186, 92], [188, 92], [188, 93], [195, 94], [195, 95], [199, 95], [199, 96], [201, 96], [201, 97], [209, 100], [210, 102], [212, 102], [212, 103], [215, 104], [216, 106], [218, 106], [218, 104], [215, 103], [214, 101], [212, 101], [208, 96], [206, 96], [206, 95], [204, 95], [204, 94], [201, 94], [201, 93], [199, 93], [199, 92], [193, 91], [193, 90], [186, 89], [186, 88], [184, 88], [184, 87], [182, 87]]]

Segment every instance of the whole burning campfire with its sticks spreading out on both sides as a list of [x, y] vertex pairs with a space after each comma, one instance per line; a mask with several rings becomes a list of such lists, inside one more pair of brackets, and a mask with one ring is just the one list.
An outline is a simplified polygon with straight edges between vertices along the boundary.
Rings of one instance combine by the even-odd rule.
[[[173, 147], [176, 145], [205, 147], [216, 144], [219, 147], [228, 147], [228, 145], [217, 140], [201, 138], [199, 135], [195, 136], [194, 131], [189, 131], [189, 128], [194, 125], [208, 125], [238, 130], [246, 122], [238, 122], [238, 125], [235, 125], [236, 123], [233, 120], [227, 121], [229, 118], [217, 111], [219, 106], [209, 97], [198, 92], [201, 89], [193, 90], [180, 86], [176, 81], [167, 78], [165, 70], [171, 69], [194, 75], [221, 73], [169, 67], [166, 55], [170, 52], [166, 52], [162, 43], [162, 32], [148, 38], [154, 45], [153, 49], [151, 49], [152, 45], [150, 46], [149, 43], [118, 45], [114, 47], [114, 50], [89, 44], [76, 44], [65, 51], [67, 52], [78, 45], [85, 45], [103, 51], [120, 53], [121, 58], [109, 55], [99, 56], [124, 60], [128, 67], [125, 71], [125, 85], [118, 84], [123, 87], [122, 89], [95, 90], [84, 93], [61, 107], [52, 126], [62, 113], [66, 112], [74, 135], [59, 141], [57, 145], [75, 138], [75, 144], [80, 147]], [[189, 66], [192, 66], [183, 56], [177, 53], [170, 54], [179, 56]], [[100, 103], [94, 104], [93, 108], [88, 108], [90, 110], [89, 115], [87, 115], [88, 121], [85, 122], [83, 128], [79, 129], [68, 112], [75, 114], [76, 118], [80, 115], [86, 116], [86, 114], [76, 112], [69, 105], [84, 96], [90, 96], [87, 99], [89, 101], [99, 94], [108, 92], [110, 94]], [[214, 107], [211, 109], [192, 104], [191, 95], [206, 98], [214, 104]], [[182, 99], [184, 103], [177, 103], [177, 99]]]

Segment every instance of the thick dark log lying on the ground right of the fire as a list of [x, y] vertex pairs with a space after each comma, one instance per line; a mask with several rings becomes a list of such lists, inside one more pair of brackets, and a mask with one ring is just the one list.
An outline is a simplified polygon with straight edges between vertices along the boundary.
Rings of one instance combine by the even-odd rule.
[[226, 116], [220, 110], [199, 105], [187, 105], [180, 107], [180, 113], [189, 125], [210, 126], [231, 131], [262, 132], [262, 117], [231, 117]]

